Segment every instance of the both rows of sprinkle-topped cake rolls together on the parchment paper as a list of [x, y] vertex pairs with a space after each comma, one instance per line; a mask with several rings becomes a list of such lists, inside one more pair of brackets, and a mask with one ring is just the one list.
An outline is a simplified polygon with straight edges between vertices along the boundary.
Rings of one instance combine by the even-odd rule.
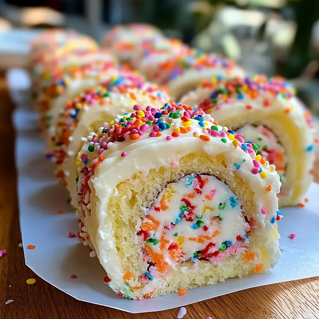
[[151, 26], [115, 27], [103, 43], [49, 32], [29, 69], [47, 156], [105, 281], [142, 299], [267, 272], [280, 185], [285, 206], [310, 184], [312, 128], [293, 88]]

